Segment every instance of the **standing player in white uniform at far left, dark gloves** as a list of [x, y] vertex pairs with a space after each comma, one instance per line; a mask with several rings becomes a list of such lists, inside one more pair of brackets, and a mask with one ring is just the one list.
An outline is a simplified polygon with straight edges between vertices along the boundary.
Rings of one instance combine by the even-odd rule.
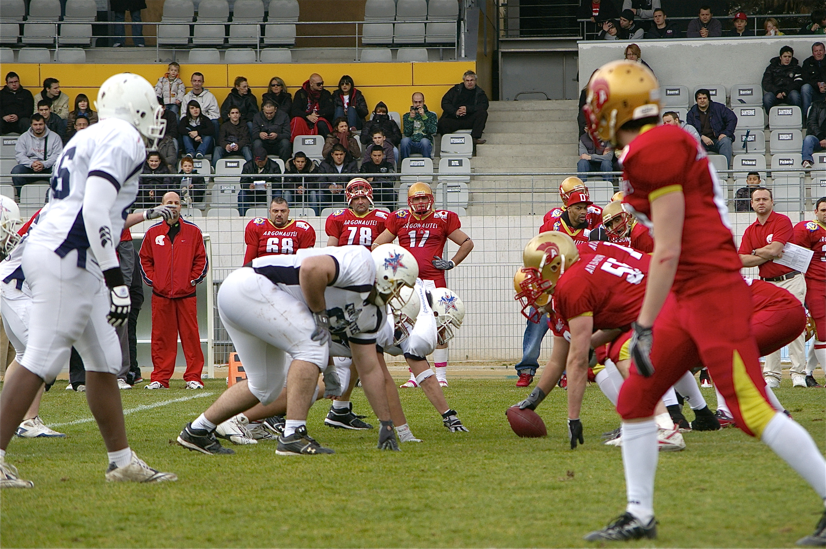
[[129, 318], [129, 288], [115, 254], [138, 174], [164, 134], [163, 110], [136, 74], [108, 78], [97, 92], [101, 121], [69, 140], [51, 178], [49, 207], [26, 237], [21, 267], [31, 287], [29, 337], [21, 368], [0, 398], [0, 485], [31, 487], [5, 462], [6, 448], [42, 383], [55, 380], [74, 346], [86, 367], [86, 395], [108, 452], [107, 480], [177, 480], [141, 461], [126, 440], [116, 374], [114, 326]]

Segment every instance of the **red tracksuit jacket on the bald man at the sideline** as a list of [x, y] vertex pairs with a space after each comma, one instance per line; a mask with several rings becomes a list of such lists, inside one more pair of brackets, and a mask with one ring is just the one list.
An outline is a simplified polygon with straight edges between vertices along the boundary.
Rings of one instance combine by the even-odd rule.
[[177, 227], [161, 221], [146, 231], [140, 246], [140, 271], [154, 294], [169, 299], [192, 297], [195, 284], [207, 277], [208, 268], [203, 235], [194, 223], [178, 218]]

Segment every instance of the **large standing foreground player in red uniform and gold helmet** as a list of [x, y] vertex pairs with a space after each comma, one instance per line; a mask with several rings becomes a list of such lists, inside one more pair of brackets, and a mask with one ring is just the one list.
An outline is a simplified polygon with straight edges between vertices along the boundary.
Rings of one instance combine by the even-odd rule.
[[[657, 536], [657, 401], [700, 361], [738, 427], [760, 437], [826, 499], [826, 461], [809, 433], [766, 398], [752, 300], [729, 229], [725, 196], [702, 147], [659, 123], [659, 84], [642, 65], [605, 64], [584, 107], [591, 134], [624, 148], [624, 202], [653, 228], [654, 252], [629, 353], [635, 368], [619, 390], [628, 506], [590, 541]], [[662, 162], [663, 158], [669, 159]], [[690, 207], [689, 207], [690, 206]], [[826, 513], [804, 545], [826, 545]]]

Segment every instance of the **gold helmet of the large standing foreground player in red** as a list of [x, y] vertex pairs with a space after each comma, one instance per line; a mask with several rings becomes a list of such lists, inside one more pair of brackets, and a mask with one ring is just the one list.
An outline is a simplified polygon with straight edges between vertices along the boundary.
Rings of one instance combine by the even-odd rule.
[[612, 61], [591, 77], [582, 111], [591, 138], [616, 144], [616, 131], [626, 122], [660, 116], [657, 77], [643, 64]]

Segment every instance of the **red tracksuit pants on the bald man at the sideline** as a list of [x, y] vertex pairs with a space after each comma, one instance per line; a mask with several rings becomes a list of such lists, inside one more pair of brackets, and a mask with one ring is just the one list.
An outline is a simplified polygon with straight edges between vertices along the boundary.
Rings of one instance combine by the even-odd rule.
[[197, 298], [169, 299], [152, 294], [152, 371], [151, 381], [169, 387], [178, 356], [178, 334], [181, 335], [183, 356], [187, 358], [184, 381], [201, 382], [204, 354], [198, 334]]

